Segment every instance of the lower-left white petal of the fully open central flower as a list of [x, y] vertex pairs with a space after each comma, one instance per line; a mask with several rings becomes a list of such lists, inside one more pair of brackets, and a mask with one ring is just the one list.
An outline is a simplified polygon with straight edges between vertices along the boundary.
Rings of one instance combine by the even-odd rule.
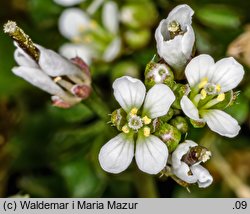
[[101, 167], [110, 173], [120, 173], [128, 168], [134, 157], [133, 137], [121, 133], [108, 141], [100, 150]]

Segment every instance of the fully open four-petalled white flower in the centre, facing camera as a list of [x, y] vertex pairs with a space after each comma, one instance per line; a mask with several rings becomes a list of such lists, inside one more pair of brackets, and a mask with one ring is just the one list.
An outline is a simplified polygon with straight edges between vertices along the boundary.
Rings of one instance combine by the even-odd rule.
[[101, 167], [111, 173], [124, 171], [133, 159], [136, 143], [135, 159], [139, 169], [157, 174], [167, 163], [168, 149], [151, 134], [149, 125], [152, 119], [167, 114], [175, 100], [174, 93], [168, 86], [157, 84], [146, 94], [140, 80], [127, 76], [116, 79], [113, 89], [116, 100], [127, 113], [127, 123], [122, 127], [123, 133], [101, 148]]

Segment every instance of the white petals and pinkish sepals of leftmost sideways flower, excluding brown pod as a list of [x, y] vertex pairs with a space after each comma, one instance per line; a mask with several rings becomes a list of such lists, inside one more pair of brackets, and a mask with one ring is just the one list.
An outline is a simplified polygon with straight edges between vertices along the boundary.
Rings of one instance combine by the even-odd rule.
[[[13, 73], [53, 95], [55, 105], [70, 107], [84, 98], [84, 92], [89, 95], [90, 77], [80, 67], [40, 45], [36, 45], [40, 53], [39, 61], [36, 62], [14, 44], [17, 47], [14, 58], [19, 66], [12, 69]], [[64, 80], [62, 76], [67, 76], [70, 81]]]

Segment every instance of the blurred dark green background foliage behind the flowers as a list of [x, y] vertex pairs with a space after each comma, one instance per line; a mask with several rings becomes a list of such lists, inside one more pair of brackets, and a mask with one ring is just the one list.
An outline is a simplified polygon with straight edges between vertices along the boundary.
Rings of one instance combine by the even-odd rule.
[[[74, 7], [85, 10], [92, 1]], [[154, 31], [178, 4], [195, 11], [193, 28], [197, 54], [216, 60], [250, 24], [250, 2], [245, 0], [123, 0], [120, 11], [135, 10], [135, 20], [120, 21], [122, 51], [112, 62], [95, 59], [91, 64], [96, 91], [107, 103], [107, 114], [117, 103], [111, 85], [129, 74], [143, 79], [147, 62], [156, 53]], [[151, 15], [143, 14], [145, 5]], [[67, 40], [58, 31], [58, 18], [65, 7], [53, 0], [1, 0], [0, 25], [15, 20], [35, 43], [58, 50]], [[100, 10], [93, 19], [100, 22]], [[192, 129], [189, 139], [203, 142], [214, 154], [206, 167], [214, 177], [206, 189], [191, 186], [191, 193], [171, 179], [159, 179], [137, 169], [105, 173], [98, 163], [101, 146], [116, 135], [90, 107], [91, 101], [71, 109], [51, 106], [50, 96], [16, 77], [11, 68], [14, 46], [0, 31], [0, 196], [30, 197], [250, 197], [250, 36], [241, 44], [237, 59], [245, 67], [238, 104], [228, 109], [241, 124], [240, 134], [222, 138], [207, 129]], [[98, 108], [98, 106], [97, 106]], [[105, 116], [104, 116], [105, 118]]]

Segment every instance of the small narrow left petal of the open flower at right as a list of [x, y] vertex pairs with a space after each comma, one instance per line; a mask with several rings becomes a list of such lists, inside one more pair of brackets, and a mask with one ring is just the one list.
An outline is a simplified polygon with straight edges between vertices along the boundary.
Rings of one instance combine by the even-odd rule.
[[184, 95], [181, 98], [181, 108], [182, 111], [185, 113], [185, 115], [187, 115], [189, 118], [195, 120], [195, 121], [199, 121], [199, 122], [203, 122], [204, 120], [202, 120], [199, 117], [199, 111], [196, 108], [196, 106], [192, 103], [192, 101], [186, 96]]

